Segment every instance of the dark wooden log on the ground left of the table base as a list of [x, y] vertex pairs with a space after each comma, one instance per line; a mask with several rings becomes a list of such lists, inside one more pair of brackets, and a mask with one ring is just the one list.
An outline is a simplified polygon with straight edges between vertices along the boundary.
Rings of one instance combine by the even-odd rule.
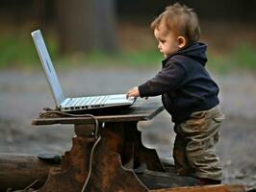
[[35, 155], [0, 153], [0, 191], [7, 188], [24, 189], [35, 180], [39, 188], [47, 179], [50, 168], [59, 164], [38, 159]]

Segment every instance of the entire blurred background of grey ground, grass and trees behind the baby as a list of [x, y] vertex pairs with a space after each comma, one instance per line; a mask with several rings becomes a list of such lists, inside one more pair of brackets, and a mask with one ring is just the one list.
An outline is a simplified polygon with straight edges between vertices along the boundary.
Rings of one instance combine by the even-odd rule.
[[[176, 1], [1, 0], [0, 152], [63, 153], [70, 126], [32, 127], [54, 108], [30, 33], [40, 29], [66, 96], [125, 93], [161, 69], [151, 21]], [[256, 188], [256, 1], [179, 1], [197, 12], [207, 68], [226, 115], [217, 151], [224, 183]], [[175, 134], [162, 112], [140, 122], [142, 139], [171, 158]]]

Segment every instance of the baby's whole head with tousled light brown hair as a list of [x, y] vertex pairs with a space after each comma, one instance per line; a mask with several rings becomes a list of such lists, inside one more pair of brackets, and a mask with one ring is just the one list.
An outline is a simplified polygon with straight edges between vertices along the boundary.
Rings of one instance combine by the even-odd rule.
[[151, 28], [159, 41], [158, 48], [165, 57], [198, 41], [200, 27], [195, 12], [178, 3], [166, 7], [152, 23]]

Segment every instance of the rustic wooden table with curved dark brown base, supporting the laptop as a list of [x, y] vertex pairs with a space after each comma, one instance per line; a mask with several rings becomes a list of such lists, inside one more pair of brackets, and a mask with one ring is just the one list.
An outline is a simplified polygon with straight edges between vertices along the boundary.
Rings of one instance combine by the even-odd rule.
[[[44, 117], [33, 125], [73, 124], [76, 136], [65, 152], [61, 168], [53, 168], [39, 192], [144, 192], [144, 191], [243, 191], [242, 186], [187, 187], [198, 183], [177, 176], [164, 167], [156, 151], [141, 143], [139, 121], [154, 118], [164, 110], [160, 100], [138, 100], [131, 108], [92, 111], [98, 121], [100, 137], [92, 133], [90, 117]], [[90, 111], [89, 111], [90, 112]], [[156, 128], [159, 129], [159, 128]], [[178, 188], [177, 188], [178, 187]]]

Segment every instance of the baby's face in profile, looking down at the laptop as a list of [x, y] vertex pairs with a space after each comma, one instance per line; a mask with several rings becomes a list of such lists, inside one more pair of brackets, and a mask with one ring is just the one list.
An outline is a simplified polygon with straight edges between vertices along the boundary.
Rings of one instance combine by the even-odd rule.
[[165, 58], [180, 49], [177, 36], [166, 29], [165, 24], [160, 24], [158, 28], [155, 28], [154, 36], [158, 40], [158, 48]]

